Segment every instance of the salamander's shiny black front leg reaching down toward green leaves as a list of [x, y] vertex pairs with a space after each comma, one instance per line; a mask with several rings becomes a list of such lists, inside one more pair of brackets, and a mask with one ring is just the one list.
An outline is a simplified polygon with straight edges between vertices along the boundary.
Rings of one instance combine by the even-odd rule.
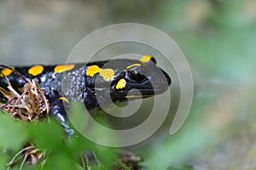
[[61, 122], [61, 125], [65, 128], [65, 132], [73, 135], [74, 131], [71, 127], [69, 127], [68, 122], [65, 119], [65, 116], [67, 114], [64, 109], [64, 105], [60, 99], [55, 100], [50, 112], [56, 117], [59, 122]]

